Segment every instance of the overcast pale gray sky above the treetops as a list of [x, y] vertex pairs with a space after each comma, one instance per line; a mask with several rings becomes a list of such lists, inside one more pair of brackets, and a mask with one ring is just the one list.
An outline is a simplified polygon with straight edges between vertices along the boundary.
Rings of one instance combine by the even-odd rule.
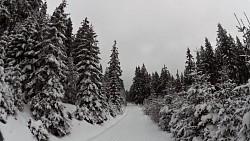
[[[61, 0], [47, 0], [51, 14]], [[98, 34], [103, 68], [117, 40], [122, 79], [129, 89], [135, 67], [145, 63], [148, 72], [165, 64], [172, 74], [183, 71], [186, 49], [192, 51], [207, 37], [216, 42], [217, 24], [238, 33], [234, 13], [250, 17], [249, 0], [68, 0], [67, 12], [74, 32], [88, 17]], [[193, 54], [195, 54], [193, 52]]]

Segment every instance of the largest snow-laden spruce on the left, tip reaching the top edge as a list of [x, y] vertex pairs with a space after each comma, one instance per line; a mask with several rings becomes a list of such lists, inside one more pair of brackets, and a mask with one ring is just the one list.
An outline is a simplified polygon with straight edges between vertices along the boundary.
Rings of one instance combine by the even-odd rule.
[[[36, 70], [27, 83], [31, 115], [35, 120], [41, 120], [43, 126], [53, 135], [62, 137], [69, 134], [69, 121], [64, 113], [62, 98], [64, 88], [62, 80], [65, 79], [66, 53], [63, 51], [65, 39], [61, 31], [65, 30], [63, 1], [53, 13], [49, 23], [42, 27], [42, 42], [35, 54], [38, 59], [34, 62]], [[52, 17], [53, 17], [52, 16]]]

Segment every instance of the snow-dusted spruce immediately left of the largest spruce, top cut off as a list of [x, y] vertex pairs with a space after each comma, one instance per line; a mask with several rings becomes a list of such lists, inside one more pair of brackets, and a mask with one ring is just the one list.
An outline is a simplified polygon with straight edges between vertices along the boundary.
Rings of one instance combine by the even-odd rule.
[[[22, 109], [22, 72], [21, 64], [25, 62], [25, 50], [33, 40], [31, 36], [34, 35], [35, 17], [39, 13], [40, 5], [42, 1], [4, 1], [1, 3], [4, 7], [3, 17], [7, 20], [6, 15], [9, 16], [9, 23], [4, 24], [9, 38], [9, 42], [5, 48], [6, 57], [5, 59], [5, 71], [8, 73], [6, 80], [8, 84], [13, 88], [14, 92], [14, 103]], [[6, 14], [7, 13], [7, 14]], [[24, 64], [26, 66], [27, 64]]]

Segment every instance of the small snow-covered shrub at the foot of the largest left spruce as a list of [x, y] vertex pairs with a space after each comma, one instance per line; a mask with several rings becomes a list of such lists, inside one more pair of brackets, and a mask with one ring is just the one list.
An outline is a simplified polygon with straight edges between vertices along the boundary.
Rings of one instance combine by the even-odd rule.
[[44, 128], [41, 120], [34, 121], [32, 119], [29, 119], [28, 128], [30, 129], [31, 133], [34, 135], [34, 137], [38, 141], [47, 141], [48, 140], [48, 132]]

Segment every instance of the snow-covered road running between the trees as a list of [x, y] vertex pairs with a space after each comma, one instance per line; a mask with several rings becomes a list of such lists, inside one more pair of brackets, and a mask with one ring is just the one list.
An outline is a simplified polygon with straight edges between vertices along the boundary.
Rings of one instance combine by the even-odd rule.
[[115, 125], [87, 141], [174, 141], [171, 135], [161, 131], [141, 108], [127, 106], [128, 113]]

